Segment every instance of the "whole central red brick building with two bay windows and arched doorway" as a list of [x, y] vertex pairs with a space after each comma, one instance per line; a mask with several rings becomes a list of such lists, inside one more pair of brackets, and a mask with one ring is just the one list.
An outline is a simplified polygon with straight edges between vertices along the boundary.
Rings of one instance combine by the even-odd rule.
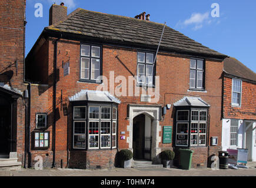
[[52, 5], [50, 15], [26, 57], [32, 163], [39, 155], [48, 167], [111, 168], [118, 150], [131, 149], [157, 164], [171, 149], [178, 164], [178, 149], [189, 148], [192, 166], [205, 167], [221, 150], [226, 55], [165, 26], [154, 63], [164, 25], [145, 13], [67, 16]]

